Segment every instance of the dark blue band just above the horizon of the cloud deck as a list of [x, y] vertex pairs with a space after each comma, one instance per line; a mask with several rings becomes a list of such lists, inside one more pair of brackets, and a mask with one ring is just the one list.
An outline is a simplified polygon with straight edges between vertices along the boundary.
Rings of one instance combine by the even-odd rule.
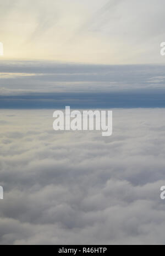
[[128, 92], [28, 93], [0, 96], [0, 108], [164, 108], [164, 90], [133, 90]]

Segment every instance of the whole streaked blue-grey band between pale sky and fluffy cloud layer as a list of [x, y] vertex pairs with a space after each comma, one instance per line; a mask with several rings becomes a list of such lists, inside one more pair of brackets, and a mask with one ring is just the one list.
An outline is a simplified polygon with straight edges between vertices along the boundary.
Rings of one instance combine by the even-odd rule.
[[164, 107], [163, 65], [2, 61], [0, 108]]

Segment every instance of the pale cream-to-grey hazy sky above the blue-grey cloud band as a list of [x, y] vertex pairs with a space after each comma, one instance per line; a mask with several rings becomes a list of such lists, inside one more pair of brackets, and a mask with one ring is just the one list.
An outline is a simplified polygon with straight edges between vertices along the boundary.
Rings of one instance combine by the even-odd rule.
[[164, 63], [163, 0], [0, 1], [4, 59]]

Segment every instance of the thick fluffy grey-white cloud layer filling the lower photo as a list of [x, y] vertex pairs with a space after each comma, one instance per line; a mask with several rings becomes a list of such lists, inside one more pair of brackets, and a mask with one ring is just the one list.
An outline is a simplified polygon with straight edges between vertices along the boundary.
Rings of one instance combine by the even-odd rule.
[[108, 138], [52, 113], [1, 111], [1, 244], [163, 244], [164, 109], [113, 109]]

